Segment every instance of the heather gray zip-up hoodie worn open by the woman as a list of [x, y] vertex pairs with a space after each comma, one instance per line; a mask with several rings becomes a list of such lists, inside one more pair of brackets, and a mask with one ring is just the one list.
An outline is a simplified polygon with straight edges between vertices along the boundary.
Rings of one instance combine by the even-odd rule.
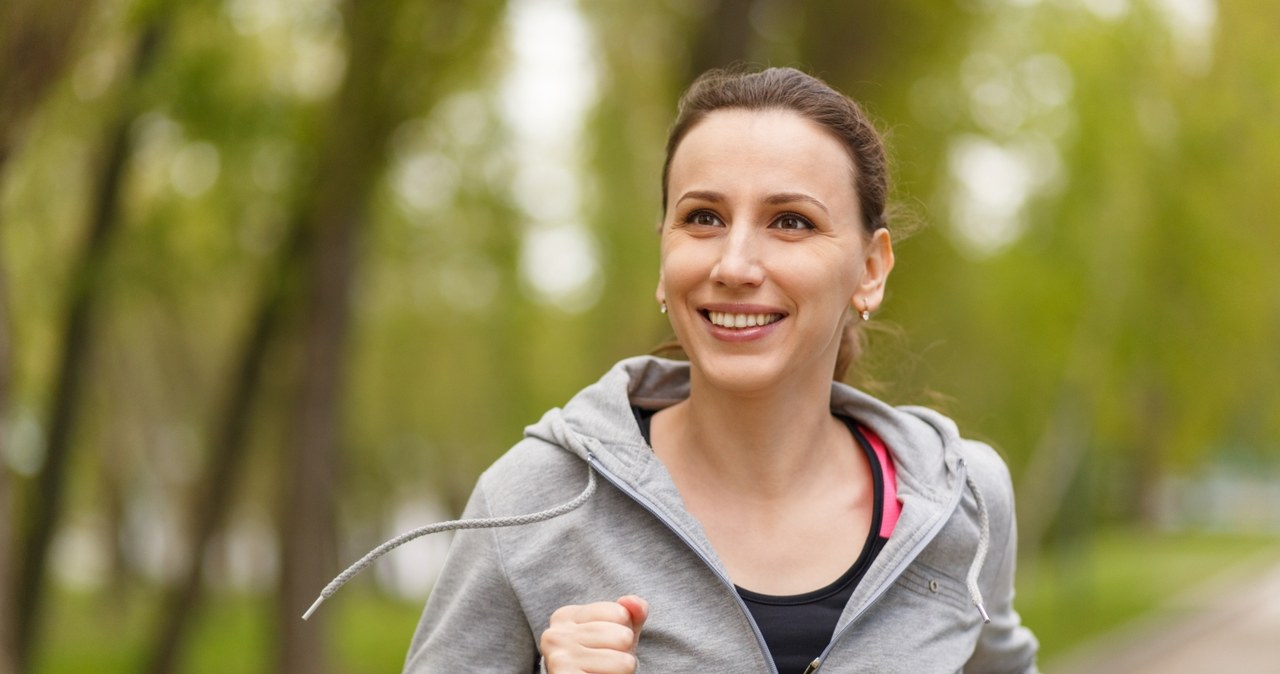
[[[631, 412], [632, 404], [660, 408], [684, 399], [687, 372], [687, 364], [660, 358], [622, 361], [526, 428], [480, 477], [467, 518], [571, 501], [589, 469], [600, 486], [554, 519], [458, 532], [404, 671], [538, 671], [538, 638], [556, 609], [628, 593], [650, 606], [640, 671], [774, 671], [723, 565]], [[1036, 638], [1011, 605], [1014, 504], [1000, 457], [961, 440], [934, 412], [892, 408], [842, 384], [832, 385], [832, 408], [884, 440], [902, 513], [827, 652], [814, 654], [819, 671], [1036, 671]], [[978, 568], [983, 512], [991, 549]], [[989, 624], [966, 590], [970, 565]]]

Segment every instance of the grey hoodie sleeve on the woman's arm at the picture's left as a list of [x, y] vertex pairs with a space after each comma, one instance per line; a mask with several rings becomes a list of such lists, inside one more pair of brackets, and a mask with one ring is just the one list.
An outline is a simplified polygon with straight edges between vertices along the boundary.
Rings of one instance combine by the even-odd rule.
[[[489, 515], [481, 481], [463, 517]], [[495, 532], [457, 532], [410, 642], [404, 673], [530, 673], [538, 666], [536, 638], [508, 581]]]

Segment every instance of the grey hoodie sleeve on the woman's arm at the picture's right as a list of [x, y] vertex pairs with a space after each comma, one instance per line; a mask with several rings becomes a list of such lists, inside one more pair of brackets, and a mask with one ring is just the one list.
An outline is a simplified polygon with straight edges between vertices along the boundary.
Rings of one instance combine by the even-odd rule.
[[[1009, 468], [996, 451], [979, 445], [974, 463], [984, 464], [984, 491], [989, 494], [992, 526], [993, 576], [983, 574], [983, 596], [991, 623], [983, 625], [978, 646], [965, 664], [966, 673], [1032, 673], [1038, 671], [1036, 654], [1039, 643], [1030, 629], [1021, 624], [1014, 610], [1014, 570], [1018, 559], [1018, 523], [1014, 515], [1014, 487]], [[1001, 541], [1000, 536], [1004, 535]]]

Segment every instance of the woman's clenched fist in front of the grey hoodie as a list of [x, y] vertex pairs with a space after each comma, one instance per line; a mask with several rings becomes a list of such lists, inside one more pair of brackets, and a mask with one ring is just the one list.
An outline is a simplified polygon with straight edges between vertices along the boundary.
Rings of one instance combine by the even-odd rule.
[[561, 606], [539, 643], [548, 674], [632, 674], [646, 618], [649, 602], [635, 595]]

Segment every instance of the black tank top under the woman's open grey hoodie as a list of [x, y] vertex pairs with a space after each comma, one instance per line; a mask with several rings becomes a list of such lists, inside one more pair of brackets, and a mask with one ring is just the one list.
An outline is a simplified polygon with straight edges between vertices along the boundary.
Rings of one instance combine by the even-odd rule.
[[[646, 443], [649, 440], [649, 426], [655, 411], [634, 407], [636, 422]], [[739, 596], [746, 602], [751, 611], [751, 618], [760, 628], [764, 643], [769, 647], [773, 664], [778, 668], [778, 674], [804, 674], [815, 657], [822, 655], [823, 648], [831, 642], [836, 631], [840, 614], [849, 604], [859, 581], [872, 565], [876, 555], [884, 547], [887, 538], [879, 535], [881, 521], [884, 515], [884, 471], [872, 449], [870, 443], [858, 428], [858, 423], [850, 418], [840, 417], [849, 427], [849, 431], [858, 440], [858, 446], [863, 449], [867, 462], [872, 468], [872, 482], [874, 485], [874, 501], [872, 508], [872, 524], [867, 532], [867, 541], [863, 544], [863, 553], [858, 560], [840, 578], [826, 587], [820, 587], [803, 595], [774, 596], [751, 592], [737, 587]], [[833, 533], [835, 536], [836, 533]], [[736, 586], [735, 586], [736, 587]]]

